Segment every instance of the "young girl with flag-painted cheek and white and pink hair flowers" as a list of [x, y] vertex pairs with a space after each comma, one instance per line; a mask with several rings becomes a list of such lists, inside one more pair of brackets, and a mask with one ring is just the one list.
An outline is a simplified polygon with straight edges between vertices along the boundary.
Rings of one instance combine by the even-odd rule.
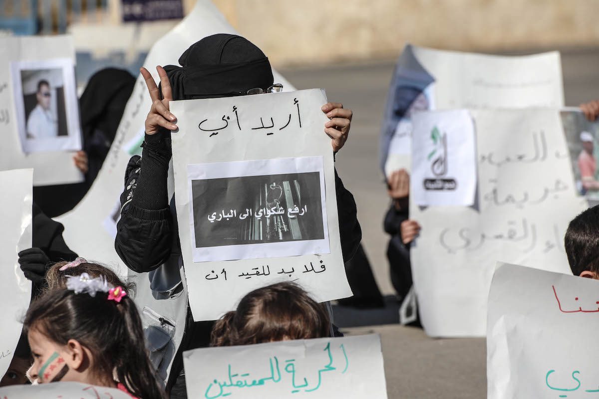
[[70, 276], [47, 292], [23, 322], [40, 383], [75, 381], [119, 388], [132, 397], [164, 398], [144, 349], [141, 319], [122, 287], [104, 276]]

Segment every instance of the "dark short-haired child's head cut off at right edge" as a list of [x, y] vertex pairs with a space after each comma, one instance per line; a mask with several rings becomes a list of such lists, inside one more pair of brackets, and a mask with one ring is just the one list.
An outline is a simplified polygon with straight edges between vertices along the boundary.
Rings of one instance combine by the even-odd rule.
[[564, 246], [574, 276], [599, 278], [599, 205], [570, 222]]

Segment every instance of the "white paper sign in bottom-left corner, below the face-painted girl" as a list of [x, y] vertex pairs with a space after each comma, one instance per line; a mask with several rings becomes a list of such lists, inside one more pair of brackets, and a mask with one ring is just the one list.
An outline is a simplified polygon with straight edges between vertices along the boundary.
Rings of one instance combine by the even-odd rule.
[[11, 385], [0, 388], [2, 399], [131, 399], [116, 388], [95, 386], [80, 382], [53, 382], [40, 385]]

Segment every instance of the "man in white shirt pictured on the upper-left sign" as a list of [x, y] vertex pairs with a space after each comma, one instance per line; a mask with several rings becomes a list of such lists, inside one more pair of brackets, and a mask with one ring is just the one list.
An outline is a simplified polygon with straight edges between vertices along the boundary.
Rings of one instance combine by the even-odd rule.
[[37, 105], [27, 118], [26, 134], [28, 139], [54, 138], [58, 135], [58, 120], [50, 108], [52, 91], [50, 83], [38, 81], [35, 93]]

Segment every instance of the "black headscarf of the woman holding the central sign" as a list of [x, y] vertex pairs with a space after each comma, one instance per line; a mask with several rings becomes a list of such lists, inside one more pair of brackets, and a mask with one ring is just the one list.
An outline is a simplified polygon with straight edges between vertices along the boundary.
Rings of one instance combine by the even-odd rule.
[[207, 36], [187, 48], [179, 63], [164, 67], [174, 100], [238, 96], [273, 84], [268, 58], [237, 35]]

